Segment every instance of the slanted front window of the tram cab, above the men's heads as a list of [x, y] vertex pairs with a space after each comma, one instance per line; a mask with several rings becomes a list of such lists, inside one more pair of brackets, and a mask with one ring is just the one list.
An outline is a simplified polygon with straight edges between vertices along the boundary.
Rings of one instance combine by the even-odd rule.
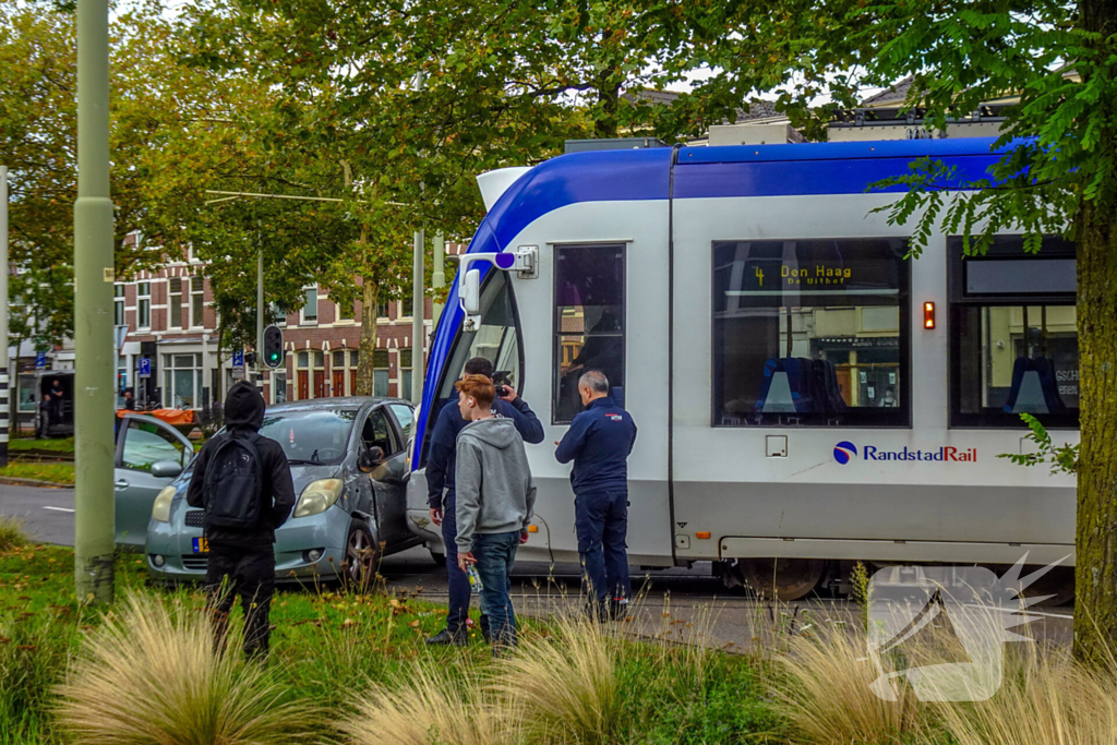
[[438, 398], [427, 417], [427, 437], [423, 438], [421, 464], [426, 465], [430, 449], [430, 433], [433, 431], [438, 412], [450, 401], [458, 400], [454, 384], [461, 379], [466, 362], [472, 357], [486, 357], [493, 363], [494, 375], [522, 391], [521, 370], [523, 360], [519, 341], [519, 319], [513, 297], [508, 275], [489, 271], [481, 290], [481, 322], [476, 332], [459, 332], [447, 361], [443, 379], [439, 382]]

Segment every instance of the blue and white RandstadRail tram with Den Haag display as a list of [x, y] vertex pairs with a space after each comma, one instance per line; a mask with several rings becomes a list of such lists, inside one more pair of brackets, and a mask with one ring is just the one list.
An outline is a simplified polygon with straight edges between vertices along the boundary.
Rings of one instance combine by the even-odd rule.
[[997, 456], [1028, 447], [1021, 412], [1078, 437], [1073, 246], [1030, 256], [1005, 235], [963, 260], [939, 232], [909, 259], [911, 225], [872, 211], [896, 190], [868, 189], [925, 155], [972, 182], [991, 144], [607, 151], [483, 175], [488, 214], [451, 292], [469, 313], [451, 299], [441, 318], [416, 422], [413, 529], [442, 550], [427, 436], [480, 354], [547, 430], [527, 448], [538, 529], [524, 558], [576, 561], [569, 466], [550, 443], [591, 367], [640, 427], [634, 564], [713, 561], [796, 598], [859, 560], [1070, 554], [1073, 480]]

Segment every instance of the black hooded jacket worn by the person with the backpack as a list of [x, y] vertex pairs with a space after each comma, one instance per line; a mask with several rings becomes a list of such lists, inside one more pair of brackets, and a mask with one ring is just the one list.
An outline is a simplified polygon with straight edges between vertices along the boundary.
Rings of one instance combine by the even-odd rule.
[[270, 551], [271, 544], [276, 541], [276, 528], [287, 522], [295, 506], [295, 483], [290, 477], [287, 456], [278, 442], [256, 434], [262, 423], [264, 398], [251, 383], [247, 381], [237, 383], [229, 389], [229, 394], [225, 399], [225, 431], [202, 446], [194, 459], [193, 475], [187, 489], [187, 504], [204, 509], [206, 468], [222, 438], [251, 438], [260, 457], [260, 470], [264, 477], [260, 496], [264, 499], [264, 508], [260, 509], [259, 523], [250, 528], [211, 526], [207, 528], [206, 537], [212, 546]]

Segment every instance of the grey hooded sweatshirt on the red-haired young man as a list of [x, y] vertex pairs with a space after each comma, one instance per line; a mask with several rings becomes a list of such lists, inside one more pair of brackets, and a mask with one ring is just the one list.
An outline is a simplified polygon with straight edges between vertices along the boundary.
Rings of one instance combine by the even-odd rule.
[[513, 420], [493, 417], [466, 424], [456, 460], [459, 551], [469, 551], [475, 533], [527, 529], [535, 483]]

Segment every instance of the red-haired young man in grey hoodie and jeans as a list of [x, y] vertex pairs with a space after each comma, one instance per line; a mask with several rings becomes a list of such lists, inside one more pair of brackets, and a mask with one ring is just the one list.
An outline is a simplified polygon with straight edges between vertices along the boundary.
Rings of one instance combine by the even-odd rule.
[[493, 413], [493, 381], [466, 375], [456, 388], [461, 417], [470, 421], [457, 446], [458, 569], [476, 565], [481, 611], [498, 652], [516, 644], [512, 567], [516, 548], [527, 541], [535, 484], [516, 426]]

